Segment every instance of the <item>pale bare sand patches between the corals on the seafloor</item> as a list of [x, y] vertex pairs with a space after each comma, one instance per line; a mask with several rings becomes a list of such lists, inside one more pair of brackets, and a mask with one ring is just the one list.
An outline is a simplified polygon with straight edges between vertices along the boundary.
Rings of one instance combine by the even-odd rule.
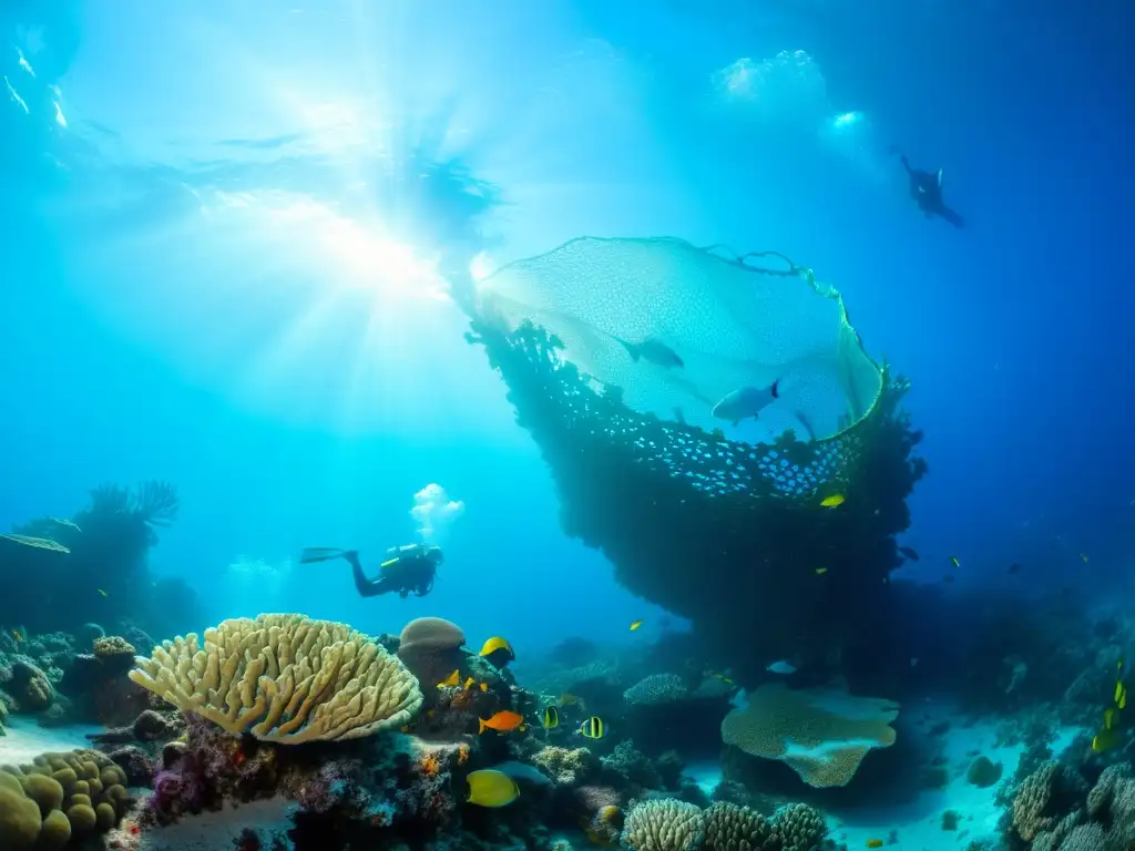
[[[896, 851], [964, 851], [975, 840], [994, 837], [1001, 808], [995, 803], [997, 791], [1017, 770], [1023, 745], [994, 748], [998, 719], [966, 725], [964, 717], [952, 715], [945, 705], [919, 708], [928, 722], [947, 721], [950, 730], [941, 739], [941, 752], [947, 759], [950, 783], [940, 790], [925, 790], [915, 800], [900, 806], [863, 807], [854, 809], [829, 808], [827, 823], [831, 839], [847, 843], [849, 849], [867, 848], [871, 839], [883, 840]], [[95, 726], [67, 726], [44, 728], [27, 719], [14, 719], [8, 735], [0, 736], [0, 765], [28, 762], [45, 751], [65, 751], [90, 747], [87, 733], [101, 732]], [[1082, 731], [1068, 727], [1059, 731], [1052, 743], [1054, 753], [1063, 750]], [[978, 751], [1004, 770], [1001, 783], [978, 789], [966, 781], [966, 769]], [[687, 766], [686, 774], [706, 793], [713, 792], [721, 780], [721, 769], [714, 762]], [[144, 834], [144, 851], [216, 851], [233, 846], [241, 829], [287, 829], [293, 804], [272, 799], [244, 804], [238, 809], [207, 812], [173, 827]], [[960, 817], [957, 831], [942, 829], [942, 814], [955, 810]], [[891, 832], [897, 842], [890, 844]]]

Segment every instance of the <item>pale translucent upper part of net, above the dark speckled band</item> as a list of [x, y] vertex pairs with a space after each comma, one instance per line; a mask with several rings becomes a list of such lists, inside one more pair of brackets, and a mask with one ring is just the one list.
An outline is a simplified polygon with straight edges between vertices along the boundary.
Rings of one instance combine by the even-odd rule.
[[[745, 436], [771, 441], [792, 429], [823, 440], [866, 416], [883, 389], [839, 293], [794, 266], [757, 268], [673, 238], [581, 237], [503, 267], [477, 294], [482, 317], [545, 328], [628, 407], [707, 430], [731, 427], [711, 413], [728, 394], [779, 381]], [[647, 342], [682, 365], [634, 360], [623, 345]]]

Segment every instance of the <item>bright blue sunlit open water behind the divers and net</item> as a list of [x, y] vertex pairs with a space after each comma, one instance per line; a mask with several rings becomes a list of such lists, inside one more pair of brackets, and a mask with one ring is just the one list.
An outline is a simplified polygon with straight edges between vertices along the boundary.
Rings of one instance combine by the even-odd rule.
[[[960, 556], [960, 583], [1025, 559], [1029, 584], [1129, 574], [1119, 3], [2, 15], [2, 523], [167, 479], [182, 515], [152, 567], [212, 618], [622, 639], [661, 614], [560, 532], [504, 388], [423, 281], [481, 251], [674, 234], [840, 287], [914, 382], [932, 473], [906, 542]], [[918, 214], [890, 144], [943, 168], [964, 230]], [[430, 482], [465, 512], [428, 600], [294, 564], [412, 540]]]

